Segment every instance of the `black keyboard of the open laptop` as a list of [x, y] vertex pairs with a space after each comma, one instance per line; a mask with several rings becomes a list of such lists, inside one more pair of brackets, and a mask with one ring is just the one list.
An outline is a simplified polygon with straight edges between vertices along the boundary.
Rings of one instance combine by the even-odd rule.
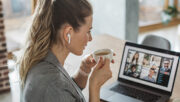
[[111, 90], [118, 92], [118, 93], [122, 93], [124, 95], [130, 96], [130, 97], [134, 97], [136, 99], [142, 100], [144, 102], [156, 102], [160, 96], [151, 94], [151, 93], [147, 93], [135, 88], [131, 88], [125, 85], [117, 85], [113, 88], [111, 88]]

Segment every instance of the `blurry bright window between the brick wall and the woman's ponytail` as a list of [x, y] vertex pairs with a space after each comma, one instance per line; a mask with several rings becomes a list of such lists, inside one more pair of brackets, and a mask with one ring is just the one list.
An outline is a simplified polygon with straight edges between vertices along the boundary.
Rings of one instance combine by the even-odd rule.
[[20, 49], [25, 41], [31, 0], [2, 0], [8, 52]]

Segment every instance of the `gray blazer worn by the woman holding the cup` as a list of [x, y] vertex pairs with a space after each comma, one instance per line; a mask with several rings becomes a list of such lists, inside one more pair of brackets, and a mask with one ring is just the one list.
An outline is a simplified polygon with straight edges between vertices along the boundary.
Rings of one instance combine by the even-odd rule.
[[29, 70], [22, 92], [23, 102], [85, 102], [80, 88], [51, 51]]

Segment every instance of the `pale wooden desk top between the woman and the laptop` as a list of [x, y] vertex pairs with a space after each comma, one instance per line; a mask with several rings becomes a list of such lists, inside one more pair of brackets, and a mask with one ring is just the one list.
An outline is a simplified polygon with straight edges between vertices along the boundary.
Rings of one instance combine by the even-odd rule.
[[[90, 42], [87, 48], [85, 49], [83, 55], [89, 54], [92, 51], [95, 51], [97, 49], [102, 49], [102, 48], [111, 48], [116, 53], [116, 56], [114, 57], [115, 64], [111, 65], [113, 77], [110, 80], [108, 80], [103, 86], [110, 85], [111, 83], [117, 80], [124, 44], [125, 44], [124, 40], [120, 40], [118, 38], [115, 38], [109, 35], [98, 35], [98, 36], [94, 36], [93, 41]], [[80, 60], [78, 60], [79, 62], [77, 61], [78, 58], [82, 58], [82, 57], [70, 55], [68, 56], [67, 62], [68, 64], [69, 63], [73, 64], [73, 66], [75, 65], [76, 68], [78, 69], [79, 64], [80, 64]], [[74, 69], [74, 68], [68, 69], [68, 72], [74, 72], [70, 70], [77, 70], [77, 69]], [[172, 94], [171, 99], [180, 97], [180, 74], [179, 73], [180, 73], [180, 70], [177, 73], [177, 78], [176, 78], [176, 82], [174, 86], [174, 92]], [[86, 100], [88, 100], [88, 97], [89, 97], [88, 86], [83, 90], [83, 94]]]

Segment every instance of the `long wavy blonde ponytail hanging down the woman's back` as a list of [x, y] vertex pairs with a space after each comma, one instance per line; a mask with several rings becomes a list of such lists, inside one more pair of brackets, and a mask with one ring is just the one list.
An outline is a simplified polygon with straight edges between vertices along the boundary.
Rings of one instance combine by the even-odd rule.
[[28, 30], [28, 42], [20, 58], [20, 79], [24, 86], [30, 68], [42, 60], [51, 45], [52, 0], [37, 0], [32, 24]]

